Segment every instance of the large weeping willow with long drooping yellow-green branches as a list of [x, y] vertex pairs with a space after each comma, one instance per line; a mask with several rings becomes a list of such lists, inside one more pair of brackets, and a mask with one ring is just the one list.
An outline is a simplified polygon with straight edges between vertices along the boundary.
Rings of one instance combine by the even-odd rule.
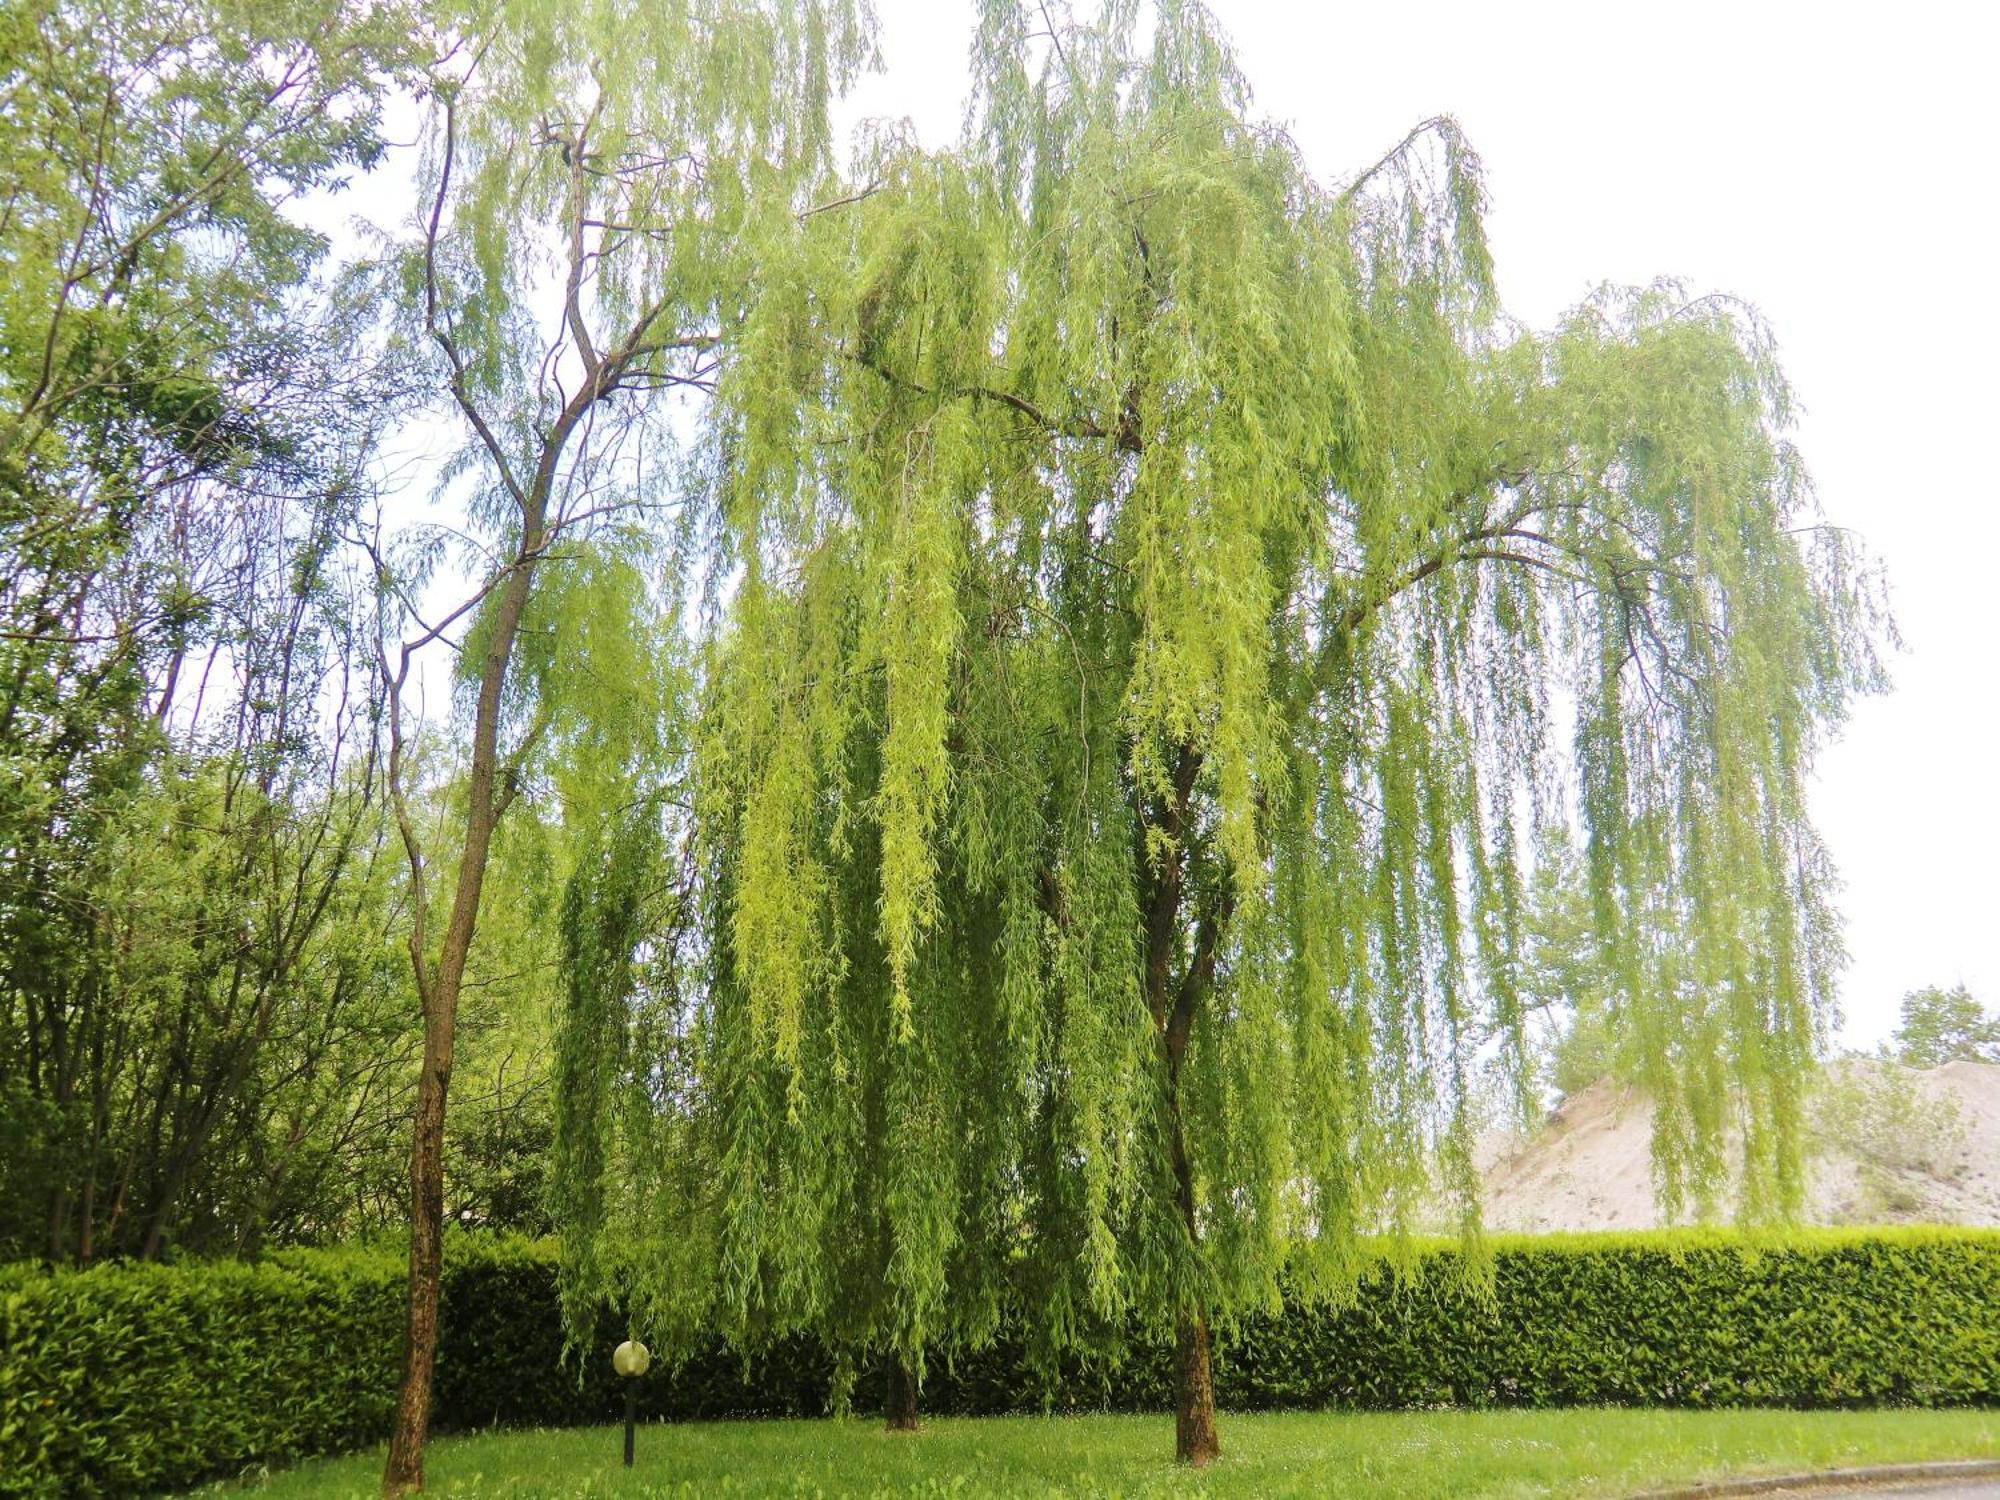
[[964, 148], [884, 142], [722, 382], [706, 970], [632, 1212], [734, 1336], [916, 1378], [1172, 1330], [1206, 1462], [1216, 1320], [1338, 1296], [1438, 1178], [1476, 1236], [1540, 830], [1668, 1210], [1798, 1204], [1804, 784], [1880, 616], [1748, 310], [1528, 332], [1450, 120], [1322, 186], [1198, 6], [1050, 30], [982, 6]]

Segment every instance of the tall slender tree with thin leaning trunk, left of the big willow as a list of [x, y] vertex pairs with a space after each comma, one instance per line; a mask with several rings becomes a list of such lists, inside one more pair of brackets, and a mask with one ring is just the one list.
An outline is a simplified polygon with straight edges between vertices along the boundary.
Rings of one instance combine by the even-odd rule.
[[[384, 1494], [422, 1488], [438, 1338], [444, 1112], [494, 828], [538, 756], [582, 732], [592, 630], [648, 598], [632, 510], [670, 496], [674, 392], [706, 392], [760, 238], [826, 172], [826, 106], [866, 36], [842, 2], [484, 6], [430, 84], [422, 244], [406, 280], [440, 394], [470, 430], [474, 586], [384, 648], [388, 780], [410, 866], [424, 1056], [410, 1152], [410, 1308]], [[562, 582], [574, 574], [584, 582]], [[634, 592], [636, 590], [636, 592]], [[412, 810], [412, 664], [458, 654], [462, 814], [434, 854]], [[598, 684], [602, 688], [602, 684]], [[452, 868], [440, 882], [432, 864]]]

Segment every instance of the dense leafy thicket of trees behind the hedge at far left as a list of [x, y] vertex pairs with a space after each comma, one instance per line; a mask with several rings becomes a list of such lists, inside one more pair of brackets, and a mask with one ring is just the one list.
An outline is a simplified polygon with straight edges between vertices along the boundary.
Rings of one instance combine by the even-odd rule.
[[408, 16], [248, 12], [0, 8], [0, 1254], [340, 1218], [394, 1032], [340, 546], [392, 392], [296, 208]]

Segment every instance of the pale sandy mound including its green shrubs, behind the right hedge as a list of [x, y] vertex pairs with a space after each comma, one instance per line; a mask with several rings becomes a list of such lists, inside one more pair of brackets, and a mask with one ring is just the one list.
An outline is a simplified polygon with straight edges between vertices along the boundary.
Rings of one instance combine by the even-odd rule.
[[[1610, 1082], [1564, 1100], [1530, 1136], [1480, 1150], [1492, 1230], [1660, 1224], [1652, 1104]], [[2000, 1226], [2000, 1066], [1836, 1064], [1814, 1108], [1816, 1224]]]

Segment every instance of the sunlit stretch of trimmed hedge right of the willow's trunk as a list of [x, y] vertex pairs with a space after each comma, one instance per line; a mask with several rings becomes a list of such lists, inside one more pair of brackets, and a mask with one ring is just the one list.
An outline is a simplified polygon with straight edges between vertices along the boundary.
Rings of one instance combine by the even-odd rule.
[[1492, 1296], [1436, 1272], [1240, 1330], [1234, 1406], [2000, 1402], [2000, 1234], [1502, 1240]]

